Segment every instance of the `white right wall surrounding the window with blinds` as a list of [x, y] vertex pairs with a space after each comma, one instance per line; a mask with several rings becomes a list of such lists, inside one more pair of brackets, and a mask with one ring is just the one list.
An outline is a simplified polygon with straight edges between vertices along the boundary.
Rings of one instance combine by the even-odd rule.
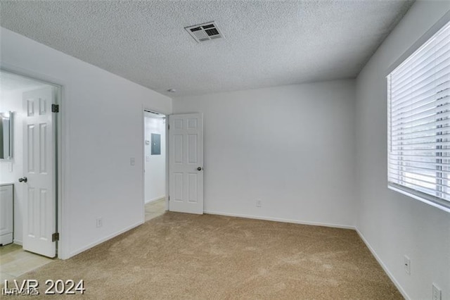
[[[450, 214], [387, 189], [387, 68], [450, 9], [418, 1], [356, 81], [359, 211], [356, 227], [411, 299], [431, 299], [432, 282], [450, 299]], [[411, 275], [403, 256], [411, 258]]]

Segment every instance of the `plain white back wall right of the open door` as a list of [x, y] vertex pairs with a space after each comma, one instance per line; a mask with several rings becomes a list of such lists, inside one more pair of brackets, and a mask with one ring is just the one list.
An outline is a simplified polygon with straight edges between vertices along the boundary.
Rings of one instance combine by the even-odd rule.
[[184, 97], [173, 110], [204, 113], [205, 212], [354, 225], [354, 80]]

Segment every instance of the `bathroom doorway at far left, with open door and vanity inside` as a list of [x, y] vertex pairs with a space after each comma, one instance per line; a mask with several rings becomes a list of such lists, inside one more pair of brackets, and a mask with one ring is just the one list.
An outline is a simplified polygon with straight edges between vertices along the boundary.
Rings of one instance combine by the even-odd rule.
[[0, 70], [0, 92], [0, 266], [13, 279], [57, 254], [61, 90]]

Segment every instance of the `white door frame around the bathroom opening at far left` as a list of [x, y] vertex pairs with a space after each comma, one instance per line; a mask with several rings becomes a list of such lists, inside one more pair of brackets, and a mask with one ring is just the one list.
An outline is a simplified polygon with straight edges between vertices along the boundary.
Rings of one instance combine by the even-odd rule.
[[58, 115], [56, 116], [56, 122], [54, 123], [56, 136], [54, 139], [53, 147], [55, 147], [54, 163], [55, 163], [55, 182], [53, 182], [53, 189], [55, 190], [56, 197], [56, 232], [59, 232], [60, 239], [56, 242], [56, 257], [65, 259], [68, 258], [68, 238], [65, 235], [65, 228], [68, 228], [68, 220], [65, 218], [65, 210], [63, 210], [63, 196], [65, 194], [64, 185], [64, 164], [63, 156], [67, 157], [68, 151], [66, 147], [65, 140], [63, 139], [63, 131], [65, 130], [65, 109], [63, 106], [63, 99], [65, 99], [65, 85], [64, 82], [60, 80], [49, 77], [40, 73], [35, 73], [32, 70], [26, 70], [23, 68], [15, 67], [14, 65], [8, 65], [5, 63], [0, 63], [0, 71], [11, 73], [14, 75], [19, 75], [30, 80], [35, 80], [37, 82], [42, 82], [46, 85], [51, 85], [56, 87], [56, 99], [55, 102], [60, 106]]

